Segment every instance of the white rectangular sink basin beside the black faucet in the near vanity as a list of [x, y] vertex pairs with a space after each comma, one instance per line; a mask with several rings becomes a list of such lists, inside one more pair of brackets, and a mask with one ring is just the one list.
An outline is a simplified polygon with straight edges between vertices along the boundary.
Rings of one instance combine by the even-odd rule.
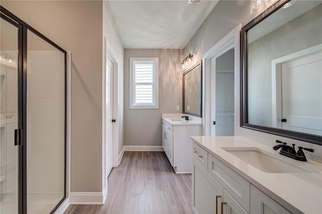
[[267, 173], [307, 173], [317, 172], [311, 168], [299, 168], [289, 163], [283, 162], [275, 157], [272, 157], [268, 152], [262, 151], [259, 148], [250, 147], [221, 147], [221, 149], [232, 154], [233, 156], [245, 161], [246, 163], [256, 167], [257, 169]]

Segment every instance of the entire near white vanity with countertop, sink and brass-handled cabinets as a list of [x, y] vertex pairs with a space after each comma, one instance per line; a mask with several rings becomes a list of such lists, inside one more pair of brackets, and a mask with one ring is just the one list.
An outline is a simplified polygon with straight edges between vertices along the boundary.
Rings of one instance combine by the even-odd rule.
[[194, 213], [322, 213], [322, 164], [242, 137], [191, 137]]

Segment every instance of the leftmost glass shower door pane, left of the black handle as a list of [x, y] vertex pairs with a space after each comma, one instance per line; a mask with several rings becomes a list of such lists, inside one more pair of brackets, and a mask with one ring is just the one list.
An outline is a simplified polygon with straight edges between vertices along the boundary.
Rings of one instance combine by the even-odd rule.
[[[18, 213], [18, 158], [15, 130], [19, 126], [19, 25], [0, 21], [0, 213]], [[21, 116], [20, 116], [21, 117]]]

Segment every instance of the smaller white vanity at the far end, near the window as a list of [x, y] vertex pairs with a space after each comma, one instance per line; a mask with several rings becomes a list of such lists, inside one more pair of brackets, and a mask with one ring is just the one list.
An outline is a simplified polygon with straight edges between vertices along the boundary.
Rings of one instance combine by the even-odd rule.
[[[184, 116], [189, 117], [186, 121]], [[162, 147], [176, 173], [191, 173], [190, 136], [200, 136], [202, 119], [184, 114], [162, 115]]]

